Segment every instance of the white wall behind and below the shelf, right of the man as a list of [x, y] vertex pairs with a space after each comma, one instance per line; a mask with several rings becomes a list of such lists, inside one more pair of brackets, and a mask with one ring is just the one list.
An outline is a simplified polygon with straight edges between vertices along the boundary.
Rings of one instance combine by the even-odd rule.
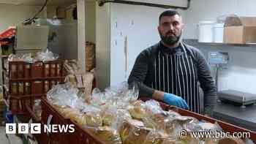
[[[216, 20], [220, 15], [236, 14], [240, 16], [256, 16], [255, 0], [193, 0], [187, 10], [187, 28], [185, 38], [197, 39], [197, 23], [200, 20]], [[219, 74], [219, 90], [235, 89], [256, 94], [256, 47], [209, 46], [200, 48], [204, 53], [209, 50], [222, 50], [230, 54], [230, 65]]]

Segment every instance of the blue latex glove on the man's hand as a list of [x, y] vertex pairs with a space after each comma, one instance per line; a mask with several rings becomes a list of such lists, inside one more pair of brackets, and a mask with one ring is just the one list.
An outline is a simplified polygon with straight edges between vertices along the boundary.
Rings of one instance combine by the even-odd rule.
[[176, 107], [180, 107], [187, 110], [189, 109], [187, 102], [184, 99], [182, 99], [181, 96], [165, 93], [163, 100], [168, 105], [175, 105]]

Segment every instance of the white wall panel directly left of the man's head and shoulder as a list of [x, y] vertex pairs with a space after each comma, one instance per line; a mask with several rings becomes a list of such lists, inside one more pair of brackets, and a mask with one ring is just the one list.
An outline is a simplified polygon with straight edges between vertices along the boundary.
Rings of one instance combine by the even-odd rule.
[[[110, 85], [115, 85], [127, 80], [138, 54], [159, 41], [157, 24], [162, 9], [127, 4], [111, 6]], [[127, 37], [128, 72], [125, 72], [125, 37]]]

